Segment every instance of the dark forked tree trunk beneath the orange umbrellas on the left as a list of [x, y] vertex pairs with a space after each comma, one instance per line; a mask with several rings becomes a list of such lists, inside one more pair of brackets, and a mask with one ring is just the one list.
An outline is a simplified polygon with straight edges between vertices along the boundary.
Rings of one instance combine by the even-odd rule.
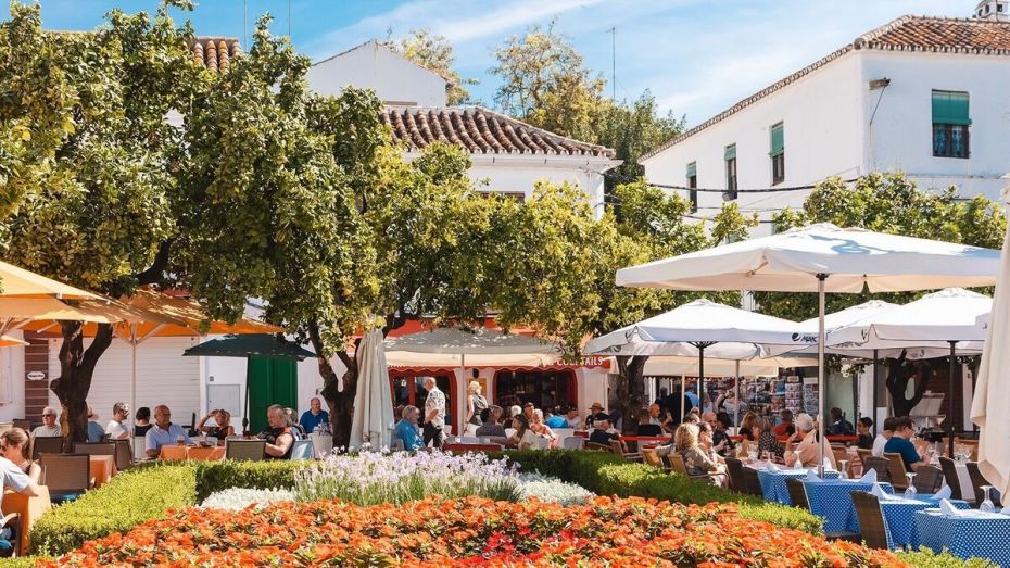
[[94, 365], [102, 353], [112, 344], [112, 326], [98, 324], [91, 345], [84, 349], [81, 321], [61, 321], [63, 344], [60, 345], [60, 376], [49, 383], [49, 389], [60, 400], [63, 413], [60, 428], [63, 431], [63, 450], [73, 450], [74, 442], [88, 440], [88, 392]]

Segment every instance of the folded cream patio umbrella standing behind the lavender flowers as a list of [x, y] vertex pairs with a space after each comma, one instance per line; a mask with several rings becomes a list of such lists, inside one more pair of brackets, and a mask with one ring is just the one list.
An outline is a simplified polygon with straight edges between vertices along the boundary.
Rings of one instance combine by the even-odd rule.
[[378, 329], [365, 333], [356, 353], [358, 378], [351, 419], [350, 450], [369, 444], [373, 450], [389, 447], [389, 426], [393, 422], [393, 396], [386, 366], [386, 348]]

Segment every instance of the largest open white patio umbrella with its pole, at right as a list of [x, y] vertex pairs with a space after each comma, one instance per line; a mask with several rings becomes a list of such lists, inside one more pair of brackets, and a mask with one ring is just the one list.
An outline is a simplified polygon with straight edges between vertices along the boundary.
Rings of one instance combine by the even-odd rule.
[[818, 422], [823, 438], [826, 292], [992, 286], [998, 269], [999, 251], [818, 224], [622, 268], [617, 285], [817, 292]]

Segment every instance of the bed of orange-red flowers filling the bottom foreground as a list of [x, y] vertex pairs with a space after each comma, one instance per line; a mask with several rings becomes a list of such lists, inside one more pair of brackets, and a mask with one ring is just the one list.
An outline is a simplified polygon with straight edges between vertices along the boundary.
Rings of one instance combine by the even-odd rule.
[[40, 566], [904, 566], [895, 556], [755, 522], [733, 505], [425, 500], [362, 507], [189, 508]]

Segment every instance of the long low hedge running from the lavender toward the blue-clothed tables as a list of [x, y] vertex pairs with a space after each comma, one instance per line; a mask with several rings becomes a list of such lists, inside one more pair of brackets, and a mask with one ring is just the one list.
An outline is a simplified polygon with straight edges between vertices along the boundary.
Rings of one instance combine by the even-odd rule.
[[641, 496], [685, 504], [737, 503], [743, 517], [811, 534], [822, 532], [821, 519], [810, 513], [705, 485], [652, 466], [630, 464], [614, 454], [526, 451], [506, 452], [505, 455], [522, 466], [520, 471], [540, 471], [578, 483], [597, 495]]

